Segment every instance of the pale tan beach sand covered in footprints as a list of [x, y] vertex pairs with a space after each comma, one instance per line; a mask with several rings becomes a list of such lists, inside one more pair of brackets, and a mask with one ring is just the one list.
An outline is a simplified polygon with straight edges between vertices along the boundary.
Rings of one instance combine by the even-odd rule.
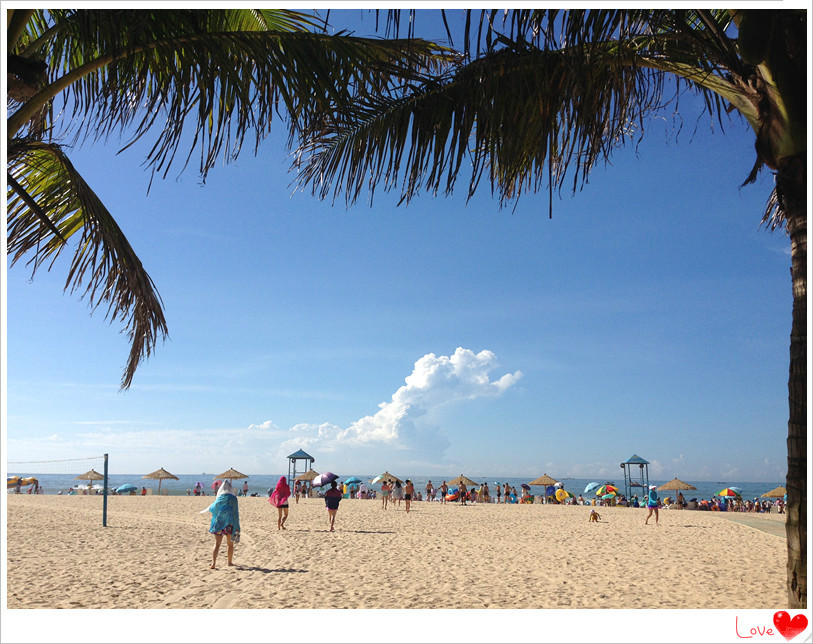
[[[9, 495], [7, 608], [776, 608], [784, 515], [556, 505], [239, 501], [235, 566], [210, 570], [213, 497]], [[762, 523], [760, 523], [762, 522]], [[650, 520], [652, 523], [652, 520]]]

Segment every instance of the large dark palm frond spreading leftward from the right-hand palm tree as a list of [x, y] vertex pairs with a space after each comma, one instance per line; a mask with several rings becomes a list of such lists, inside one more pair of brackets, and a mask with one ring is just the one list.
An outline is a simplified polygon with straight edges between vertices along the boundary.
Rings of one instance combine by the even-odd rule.
[[595, 164], [638, 139], [645, 121], [699, 93], [710, 116], [730, 105], [752, 125], [758, 114], [726, 11], [466, 11], [468, 51], [483, 53], [400, 95], [364, 97], [350, 119], [333, 119], [300, 147], [299, 181], [353, 202], [367, 188], [450, 192], [469, 170], [502, 200], [525, 190], [572, 189]]

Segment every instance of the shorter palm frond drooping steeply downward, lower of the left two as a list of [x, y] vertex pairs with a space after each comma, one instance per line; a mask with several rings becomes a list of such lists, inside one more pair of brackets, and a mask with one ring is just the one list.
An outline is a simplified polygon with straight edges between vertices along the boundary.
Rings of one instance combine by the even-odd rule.
[[[92, 309], [107, 304], [106, 318], [121, 319], [131, 341], [122, 388], [149, 357], [167, 327], [161, 298], [122, 230], [61, 148], [38, 141], [9, 145], [8, 253], [14, 265], [30, 255], [36, 271], [53, 265], [74, 235], [80, 235], [65, 289], [80, 291]], [[35, 202], [36, 207], [31, 206]], [[44, 225], [46, 213], [50, 225]]]

